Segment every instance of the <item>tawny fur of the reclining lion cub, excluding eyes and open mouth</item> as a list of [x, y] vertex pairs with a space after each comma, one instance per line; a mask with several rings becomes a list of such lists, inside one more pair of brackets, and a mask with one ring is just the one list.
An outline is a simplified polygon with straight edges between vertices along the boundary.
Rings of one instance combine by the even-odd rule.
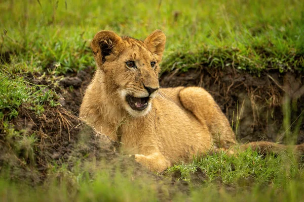
[[[98, 32], [91, 43], [97, 70], [80, 109], [80, 117], [88, 124], [121, 142], [122, 153], [135, 155], [136, 161], [159, 172], [210, 149], [236, 144], [229, 121], [203, 88], [161, 88], [149, 95], [145, 110], [130, 108], [126, 95], [146, 97], [144, 86], [159, 88], [165, 42], [160, 30], [143, 41], [112, 31]], [[127, 67], [127, 61], [134, 61], [136, 68]], [[155, 68], [150, 65], [153, 61]], [[251, 145], [281, 149], [270, 142]]]

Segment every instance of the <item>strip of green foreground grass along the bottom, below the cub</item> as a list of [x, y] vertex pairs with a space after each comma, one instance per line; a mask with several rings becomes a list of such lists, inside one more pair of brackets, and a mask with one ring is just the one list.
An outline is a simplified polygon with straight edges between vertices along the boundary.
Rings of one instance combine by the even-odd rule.
[[[1, 201], [300, 201], [303, 196], [303, 167], [296, 164], [292, 155], [261, 157], [246, 150], [238, 156], [220, 153], [196, 159], [192, 164], [170, 168], [181, 172], [189, 181], [189, 194], [170, 192], [168, 183], [155, 181], [148, 176], [134, 175], [112, 166], [88, 164], [88, 171], [77, 168], [73, 172], [58, 167], [50, 173], [47, 184], [31, 187], [24, 183], [0, 179]], [[200, 185], [192, 184], [191, 173], [198, 168], [207, 177]], [[91, 175], [90, 171], [95, 170]], [[136, 171], [135, 171], [136, 172]], [[189, 178], [188, 178], [189, 177]], [[60, 179], [60, 180], [59, 180]], [[166, 179], [164, 179], [166, 180]], [[181, 180], [181, 179], [179, 179]], [[164, 181], [165, 182], [165, 181]]]

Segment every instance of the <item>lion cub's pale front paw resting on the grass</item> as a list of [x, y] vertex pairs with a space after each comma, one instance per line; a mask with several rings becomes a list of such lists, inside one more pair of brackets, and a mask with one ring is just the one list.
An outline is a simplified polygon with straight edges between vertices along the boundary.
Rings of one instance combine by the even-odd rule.
[[170, 161], [168, 161], [162, 154], [154, 153], [151, 155], [135, 155], [135, 160], [147, 167], [150, 171], [162, 172], [171, 166]]

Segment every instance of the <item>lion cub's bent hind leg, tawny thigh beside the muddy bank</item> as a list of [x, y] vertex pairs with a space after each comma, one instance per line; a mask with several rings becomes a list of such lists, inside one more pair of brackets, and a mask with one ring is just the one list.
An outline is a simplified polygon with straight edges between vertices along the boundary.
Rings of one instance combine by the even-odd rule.
[[218, 147], [229, 148], [235, 144], [235, 134], [229, 121], [221, 112], [213, 97], [201, 87], [186, 87], [179, 92], [183, 107], [206, 124]]

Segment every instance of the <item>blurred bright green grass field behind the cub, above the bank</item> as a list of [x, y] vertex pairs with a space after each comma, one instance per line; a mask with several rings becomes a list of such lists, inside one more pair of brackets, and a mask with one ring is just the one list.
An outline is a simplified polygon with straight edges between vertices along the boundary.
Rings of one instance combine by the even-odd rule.
[[7, 70], [12, 72], [42, 70], [51, 62], [60, 64], [59, 73], [93, 66], [89, 43], [103, 29], [138, 39], [163, 30], [164, 70], [176, 62], [176, 68], [193, 67], [204, 59], [224, 67], [232, 65], [223, 62], [229, 58], [236, 68], [253, 72], [302, 71], [303, 8], [300, 0], [7, 0], [0, 3], [0, 25], [8, 30], [4, 51], [18, 55], [13, 70]]

